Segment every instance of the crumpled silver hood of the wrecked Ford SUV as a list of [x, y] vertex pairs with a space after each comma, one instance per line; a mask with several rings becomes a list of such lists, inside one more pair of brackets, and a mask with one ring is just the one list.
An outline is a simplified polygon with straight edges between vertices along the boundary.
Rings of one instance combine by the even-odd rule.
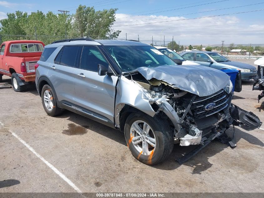
[[137, 71], [147, 80], [155, 78], [198, 96], [214, 94], [230, 81], [230, 77], [220, 70], [197, 65], [140, 67]]

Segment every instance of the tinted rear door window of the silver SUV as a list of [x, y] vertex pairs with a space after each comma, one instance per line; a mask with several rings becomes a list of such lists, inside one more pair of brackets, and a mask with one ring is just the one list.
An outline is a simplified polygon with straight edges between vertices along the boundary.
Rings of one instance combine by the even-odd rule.
[[61, 65], [74, 67], [79, 46], [65, 46], [62, 50]]

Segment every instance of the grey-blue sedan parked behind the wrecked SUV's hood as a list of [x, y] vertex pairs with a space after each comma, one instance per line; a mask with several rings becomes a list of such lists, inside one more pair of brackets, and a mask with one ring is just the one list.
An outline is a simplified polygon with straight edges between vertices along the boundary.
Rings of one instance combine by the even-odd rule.
[[214, 69], [235, 69], [240, 70], [242, 75], [242, 80], [250, 80], [257, 78], [256, 67], [236, 62], [230, 61], [226, 57], [215, 52], [208, 51], [193, 51], [193, 52], [183, 52], [180, 54], [185, 60], [190, 60], [195, 63], [211, 67]]

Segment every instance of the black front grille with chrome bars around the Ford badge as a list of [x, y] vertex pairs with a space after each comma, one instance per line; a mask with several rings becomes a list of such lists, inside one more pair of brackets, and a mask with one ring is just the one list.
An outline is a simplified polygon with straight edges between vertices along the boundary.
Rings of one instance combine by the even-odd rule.
[[[229, 97], [227, 96], [226, 92], [224, 90], [220, 90], [210, 96], [196, 97], [190, 110], [194, 115], [194, 119], [200, 119], [226, 109], [228, 106], [228, 101]], [[205, 110], [204, 107], [211, 102], [216, 104], [215, 107], [211, 110]]]

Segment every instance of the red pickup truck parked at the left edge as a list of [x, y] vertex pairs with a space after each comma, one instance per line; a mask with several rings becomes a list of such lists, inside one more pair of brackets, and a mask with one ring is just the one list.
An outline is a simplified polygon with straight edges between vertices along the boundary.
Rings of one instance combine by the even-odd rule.
[[34, 65], [40, 59], [44, 43], [41, 41], [6, 41], [0, 48], [0, 82], [2, 75], [11, 76], [13, 89], [26, 90], [26, 85], [35, 81]]

